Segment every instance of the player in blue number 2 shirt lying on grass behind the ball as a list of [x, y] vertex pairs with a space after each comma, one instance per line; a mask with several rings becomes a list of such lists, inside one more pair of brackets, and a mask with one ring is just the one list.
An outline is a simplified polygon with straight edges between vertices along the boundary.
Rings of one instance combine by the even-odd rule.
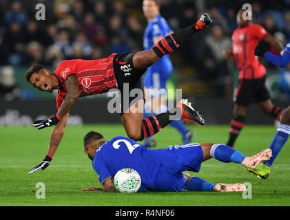
[[113, 177], [121, 168], [133, 168], [139, 173], [139, 191], [245, 191], [242, 184], [211, 184], [183, 171], [197, 173], [201, 163], [212, 157], [220, 162], [236, 162], [247, 168], [256, 168], [271, 157], [269, 148], [253, 157], [245, 157], [224, 144], [192, 143], [149, 149], [127, 137], [114, 137], [105, 142], [103, 135], [95, 131], [85, 135], [83, 144], [102, 184], [102, 188], [83, 188], [84, 191], [114, 191]]

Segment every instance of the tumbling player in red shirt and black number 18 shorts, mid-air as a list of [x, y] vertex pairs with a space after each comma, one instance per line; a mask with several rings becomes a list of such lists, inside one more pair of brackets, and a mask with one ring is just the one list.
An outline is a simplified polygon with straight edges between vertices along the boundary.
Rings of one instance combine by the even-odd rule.
[[[112, 54], [107, 58], [94, 61], [80, 59], [63, 61], [56, 68], [54, 74], [50, 74], [41, 65], [30, 67], [26, 73], [26, 80], [33, 87], [49, 92], [58, 89], [56, 97], [58, 111], [50, 118], [33, 123], [37, 129], [55, 126], [50, 137], [48, 154], [43, 162], [32, 168], [29, 173], [40, 168], [43, 170], [50, 164], [65, 132], [69, 111], [78, 98], [101, 94], [113, 88], [123, 91], [125, 83], [129, 85], [130, 91], [143, 89], [142, 75], [147, 67], [156, 63], [166, 54], [177, 50], [179, 45], [185, 43], [192, 34], [203, 30], [210, 23], [212, 20], [209, 14], [205, 13], [194, 25], [165, 36], [150, 50]], [[129, 99], [130, 106], [127, 108], [123, 105], [124, 98]], [[136, 102], [132, 102], [133, 100]], [[154, 135], [172, 122], [171, 115], [176, 115], [176, 111], [167, 111], [143, 120], [143, 111], [136, 112], [136, 109], [140, 109], [141, 106], [144, 106], [144, 96], [136, 100], [134, 97], [128, 98], [125, 97], [125, 94], [124, 96], [121, 94], [121, 120], [128, 137], [133, 140], [143, 140], [145, 137]], [[204, 124], [203, 118], [191, 107], [190, 103], [182, 101], [176, 107], [180, 108], [183, 118]]]

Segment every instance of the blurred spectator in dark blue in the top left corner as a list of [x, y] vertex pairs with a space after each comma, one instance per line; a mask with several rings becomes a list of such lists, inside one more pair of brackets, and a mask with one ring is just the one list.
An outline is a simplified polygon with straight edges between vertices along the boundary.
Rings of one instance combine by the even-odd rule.
[[17, 22], [21, 26], [25, 25], [27, 20], [27, 14], [22, 9], [20, 1], [13, 1], [10, 10], [5, 13], [5, 22], [7, 25], [10, 25], [12, 22]]

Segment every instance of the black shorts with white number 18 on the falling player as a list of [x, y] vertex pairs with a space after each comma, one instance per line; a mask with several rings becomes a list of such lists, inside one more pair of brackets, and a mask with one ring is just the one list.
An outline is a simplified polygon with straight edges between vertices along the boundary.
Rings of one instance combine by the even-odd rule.
[[144, 70], [134, 68], [133, 56], [136, 52], [125, 52], [116, 54], [114, 57], [114, 73], [118, 90], [121, 92], [121, 115], [127, 111], [138, 100], [144, 96]]

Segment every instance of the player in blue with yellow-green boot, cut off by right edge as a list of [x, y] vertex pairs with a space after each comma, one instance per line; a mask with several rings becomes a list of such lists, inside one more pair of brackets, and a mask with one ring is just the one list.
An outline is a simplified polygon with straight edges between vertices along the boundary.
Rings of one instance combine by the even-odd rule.
[[[275, 65], [278, 65], [281, 68], [284, 68], [287, 67], [287, 65], [289, 65], [290, 63], [290, 42], [284, 48], [282, 56], [278, 56], [272, 54], [271, 52], [268, 52], [267, 49], [264, 47], [264, 45], [262, 45], [262, 43], [259, 43], [259, 45], [256, 46], [254, 53], [256, 56], [262, 56], [265, 58], [265, 60]], [[290, 106], [287, 107], [287, 109], [282, 113], [276, 135], [273, 138], [271, 145], [269, 146], [269, 148], [273, 152], [273, 157], [271, 157], [269, 161], [259, 164], [259, 166], [257, 166], [255, 169], [248, 168], [248, 170], [251, 173], [258, 175], [258, 177], [262, 179], [267, 179], [271, 171], [271, 166], [273, 165], [274, 160], [280, 153], [282, 147], [287, 142], [289, 135], [290, 135]]]

